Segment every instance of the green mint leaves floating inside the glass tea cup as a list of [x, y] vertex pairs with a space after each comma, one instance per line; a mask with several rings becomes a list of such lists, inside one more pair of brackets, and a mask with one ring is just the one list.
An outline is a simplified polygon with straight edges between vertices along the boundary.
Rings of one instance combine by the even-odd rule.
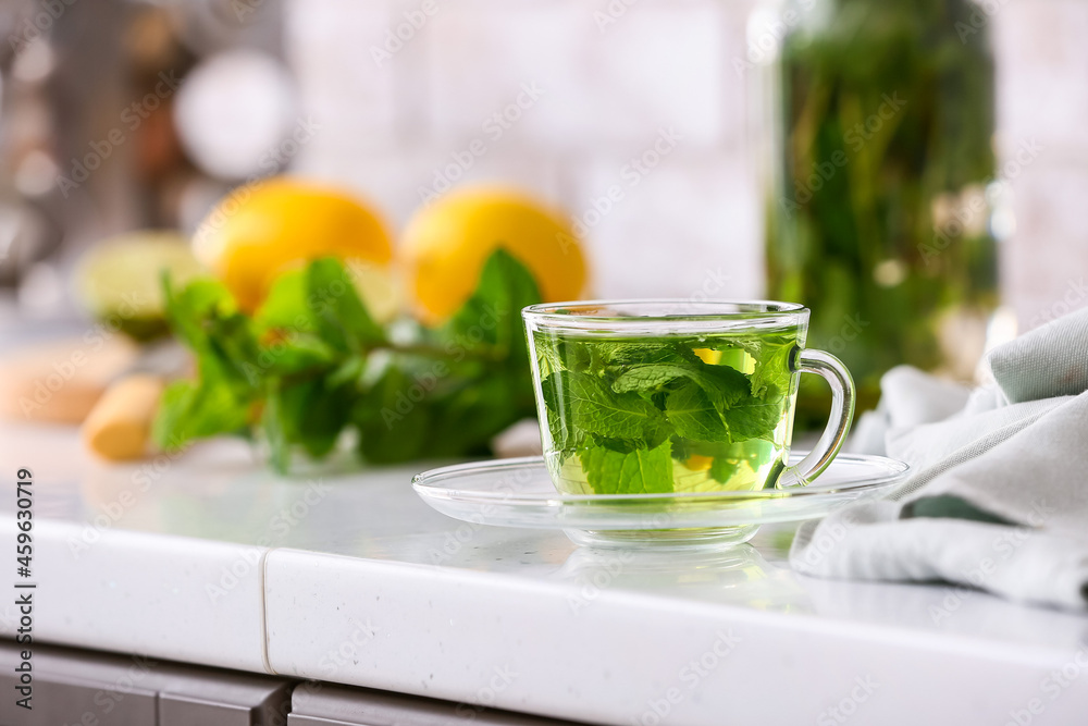
[[555, 464], [561, 469], [577, 458], [584, 477], [578, 483], [596, 494], [678, 491], [673, 463], [693, 456], [712, 459], [709, 477], [719, 483], [744, 463], [753, 471], [775, 466], [784, 451], [779, 423], [789, 413], [798, 342], [796, 330], [720, 340], [537, 334]]

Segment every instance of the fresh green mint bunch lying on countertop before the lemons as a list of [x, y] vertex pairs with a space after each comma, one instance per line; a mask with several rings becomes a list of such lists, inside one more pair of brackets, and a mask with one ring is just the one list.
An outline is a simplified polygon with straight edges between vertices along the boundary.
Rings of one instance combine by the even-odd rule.
[[240, 434], [263, 440], [284, 472], [294, 452], [322, 458], [354, 430], [370, 463], [478, 455], [534, 414], [521, 308], [540, 293], [502, 249], [463, 307], [433, 329], [378, 324], [333, 258], [280, 278], [254, 316], [214, 280], [181, 290], [166, 280], [165, 298], [198, 373], [163, 394], [153, 436], [168, 450]]

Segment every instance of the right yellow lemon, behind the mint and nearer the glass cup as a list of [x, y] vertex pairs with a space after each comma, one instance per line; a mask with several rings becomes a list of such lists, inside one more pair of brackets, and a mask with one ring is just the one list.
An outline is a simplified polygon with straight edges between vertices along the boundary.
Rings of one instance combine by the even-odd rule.
[[405, 230], [401, 256], [419, 316], [435, 323], [457, 311], [498, 247], [532, 272], [544, 302], [583, 294], [585, 259], [559, 213], [509, 189], [470, 187], [421, 209]]

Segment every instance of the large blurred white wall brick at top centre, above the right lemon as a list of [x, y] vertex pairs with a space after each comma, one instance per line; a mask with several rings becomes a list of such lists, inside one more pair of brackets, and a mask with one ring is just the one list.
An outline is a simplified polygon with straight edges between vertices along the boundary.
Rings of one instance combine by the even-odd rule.
[[678, 124], [701, 147], [735, 135], [722, 102], [721, 5], [640, 5], [603, 30], [590, 8], [462, 0], [438, 13], [428, 28], [435, 138], [479, 133], [481, 120], [524, 83], [545, 95], [511, 135], [561, 153], [638, 144], [647, 131]]

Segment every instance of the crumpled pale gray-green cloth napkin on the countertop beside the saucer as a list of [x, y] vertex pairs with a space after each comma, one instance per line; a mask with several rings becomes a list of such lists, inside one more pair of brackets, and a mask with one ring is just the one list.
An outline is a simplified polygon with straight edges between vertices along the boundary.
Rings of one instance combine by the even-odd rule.
[[911, 465], [886, 501], [798, 531], [816, 577], [944, 580], [1088, 607], [1088, 309], [994, 348], [970, 391], [910, 367], [881, 380], [851, 448]]

